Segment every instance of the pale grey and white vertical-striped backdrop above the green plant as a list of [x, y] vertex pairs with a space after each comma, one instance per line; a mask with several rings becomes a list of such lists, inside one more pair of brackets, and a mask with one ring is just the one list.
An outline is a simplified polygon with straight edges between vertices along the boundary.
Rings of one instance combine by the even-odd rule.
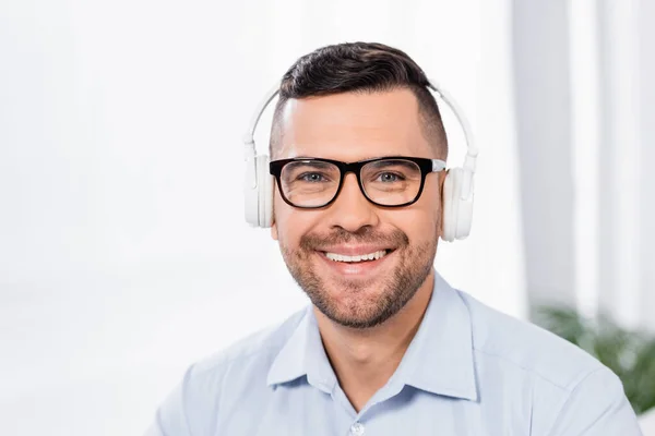
[[532, 304], [655, 328], [653, 2], [513, 2]]

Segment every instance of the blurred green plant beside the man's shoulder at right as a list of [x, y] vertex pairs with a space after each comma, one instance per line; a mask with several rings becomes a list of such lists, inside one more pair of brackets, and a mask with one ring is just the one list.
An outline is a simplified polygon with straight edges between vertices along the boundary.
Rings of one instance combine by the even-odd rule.
[[535, 323], [614, 371], [636, 414], [655, 408], [655, 337], [626, 330], [608, 316], [590, 319], [573, 308], [560, 306], [538, 307]]

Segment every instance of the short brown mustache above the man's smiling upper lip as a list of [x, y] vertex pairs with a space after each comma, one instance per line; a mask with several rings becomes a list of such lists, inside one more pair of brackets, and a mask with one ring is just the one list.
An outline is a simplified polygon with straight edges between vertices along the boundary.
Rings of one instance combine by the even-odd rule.
[[349, 232], [338, 228], [330, 234], [307, 233], [300, 238], [299, 246], [305, 251], [313, 251], [325, 245], [338, 245], [348, 243], [381, 243], [394, 249], [409, 245], [407, 234], [398, 229], [389, 233], [382, 233], [368, 227], [362, 227], [356, 232]]

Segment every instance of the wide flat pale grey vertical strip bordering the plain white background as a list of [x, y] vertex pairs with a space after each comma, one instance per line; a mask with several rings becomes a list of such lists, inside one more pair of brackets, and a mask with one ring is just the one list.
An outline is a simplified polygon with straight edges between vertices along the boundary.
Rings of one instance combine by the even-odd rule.
[[513, 2], [528, 303], [575, 304], [568, 2]]

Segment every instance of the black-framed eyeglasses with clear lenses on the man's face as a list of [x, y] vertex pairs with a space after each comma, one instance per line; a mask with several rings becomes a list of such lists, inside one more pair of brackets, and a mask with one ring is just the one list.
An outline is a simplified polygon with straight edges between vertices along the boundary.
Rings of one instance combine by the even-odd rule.
[[306, 209], [332, 204], [348, 172], [357, 175], [361, 193], [372, 204], [408, 206], [420, 197], [426, 175], [444, 169], [443, 160], [405, 156], [350, 164], [321, 158], [281, 159], [270, 164], [282, 198], [290, 206]]

